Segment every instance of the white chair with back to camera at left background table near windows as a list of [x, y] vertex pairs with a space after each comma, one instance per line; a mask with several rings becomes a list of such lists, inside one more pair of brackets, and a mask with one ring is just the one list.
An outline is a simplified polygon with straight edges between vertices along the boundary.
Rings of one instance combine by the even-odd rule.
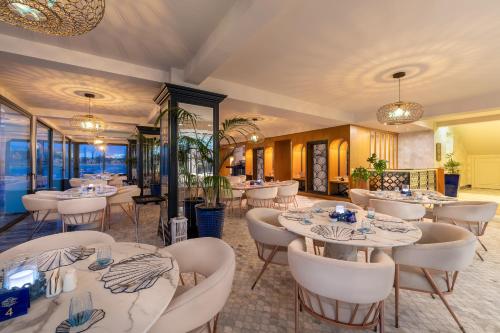
[[101, 223], [101, 231], [104, 231], [106, 205], [106, 198], [103, 197], [59, 201], [57, 211], [61, 215], [62, 231], [66, 231], [67, 225], [96, 223]]

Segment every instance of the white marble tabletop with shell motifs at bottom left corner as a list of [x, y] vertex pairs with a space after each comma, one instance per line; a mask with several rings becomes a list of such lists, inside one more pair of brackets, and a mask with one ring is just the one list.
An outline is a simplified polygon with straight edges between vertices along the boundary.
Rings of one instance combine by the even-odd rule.
[[[87, 248], [97, 249], [100, 245], [102, 246], [94, 244]], [[88, 266], [96, 259], [96, 254], [92, 254], [84, 260], [61, 267], [61, 273], [68, 267], [76, 269], [78, 285], [75, 290], [50, 299], [40, 297], [31, 303], [27, 315], [0, 323], [0, 331], [2, 333], [55, 332], [57, 326], [68, 318], [71, 298], [81, 292], [90, 291], [94, 309], [104, 310], [105, 315], [85, 332], [147, 332], [174, 296], [179, 282], [179, 266], [166, 249], [152, 245], [114, 243], [111, 244], [111, 251], [115, 266], [120, 260], [135, 255], [155, 254], [155, 258], [158, 255], [161, 257], [160, 260], [165, 260], [165, 265], [172, 263], [173, 268], [163, 273], [149, 288], [135, 292], [112, 293], [110, 289], [104, 288], [104, 281], [101, 281], [101, 278], [113, 265], [99, 271], [89, 270]], [[136, 269], [138, 264], [137, 261], [133, 262], [133, 269]], [[50, 273], [50, 271], [46, 273], [47, 278], [50, 277]]]

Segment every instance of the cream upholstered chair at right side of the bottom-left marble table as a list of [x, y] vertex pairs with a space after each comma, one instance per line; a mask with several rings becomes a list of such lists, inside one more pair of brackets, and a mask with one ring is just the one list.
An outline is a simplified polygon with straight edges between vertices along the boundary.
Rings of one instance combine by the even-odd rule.
[[[215, 332], [219, 313], [231, 293], [236, 260], [233, 249], [217, 238], [195, 238], [167, 247], [181, 274], [204, 278], [191, 288], [179, 286], [151, 333]], [[182, 280], [181, 280], [182, 281]]]

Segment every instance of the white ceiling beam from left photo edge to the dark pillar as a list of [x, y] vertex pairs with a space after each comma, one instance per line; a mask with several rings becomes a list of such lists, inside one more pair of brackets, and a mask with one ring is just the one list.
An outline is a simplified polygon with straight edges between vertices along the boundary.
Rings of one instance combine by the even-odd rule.
[[0, 51], [148, 81], [165, 82], [170, 77], [168, 71], [4, 34], [0, 34]]

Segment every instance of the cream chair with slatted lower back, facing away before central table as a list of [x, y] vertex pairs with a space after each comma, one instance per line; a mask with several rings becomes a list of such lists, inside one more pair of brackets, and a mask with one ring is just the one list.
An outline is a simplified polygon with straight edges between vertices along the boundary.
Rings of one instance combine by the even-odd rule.
[[394, 262], [381, 251], [371, 262], [352, 262], [308, 253], [302, 239], [288, 246], [295, 279], [295, 332], [300, 332], [299, 308], [342, 328], [384, 330], [384, 300], [394, 282]]

